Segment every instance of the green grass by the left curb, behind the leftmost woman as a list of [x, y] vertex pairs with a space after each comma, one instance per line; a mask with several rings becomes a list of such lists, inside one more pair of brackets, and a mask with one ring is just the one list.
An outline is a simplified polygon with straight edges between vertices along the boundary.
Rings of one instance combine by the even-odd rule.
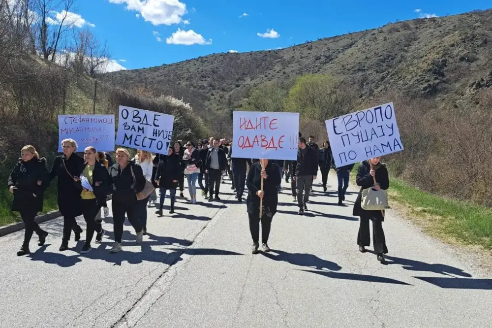
[[[10, 194], [6, 186], [0, 189], [0, 226], [22, 221], [19, 212], [12, 212], [10, 210], [12, 199], [13, 196]], [[47, 213], [57, 208], [57, 187], [56, 183], [52, 183], [50, 188], [48, 188], [44, 194], [44, 211], [42, 213]]]

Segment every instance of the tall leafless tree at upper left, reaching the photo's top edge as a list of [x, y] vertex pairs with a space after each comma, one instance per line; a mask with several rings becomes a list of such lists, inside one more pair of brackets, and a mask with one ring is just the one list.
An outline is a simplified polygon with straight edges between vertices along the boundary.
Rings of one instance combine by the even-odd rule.
[[[73, 10], [75, 0], [31, 0], [33, 10], [37, 15], [35, 32], [37, 46], [45, 60], [55, 62], [65, 33], [73, 26], [70, 21], [70, 10]], [[57, 13], [56, 19], [52, 18]]]

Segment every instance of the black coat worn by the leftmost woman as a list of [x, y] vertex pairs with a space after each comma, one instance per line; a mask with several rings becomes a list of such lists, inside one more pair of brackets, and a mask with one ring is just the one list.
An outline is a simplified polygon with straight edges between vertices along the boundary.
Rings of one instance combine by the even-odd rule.
[[[37, 182], [41, 182], [38, 186]], [[41, 212], [43, 210], [44, 192], [50, 186], [50, 175], [46, 168], [46, 159], [33, 158], [31, 161], [19, 162], [14, 166], [8, 177], [8, 188], [14, 186], [14, 200], [12, 211], [33, 210]], [[36, 196], [34, 196], [34, 195]]]

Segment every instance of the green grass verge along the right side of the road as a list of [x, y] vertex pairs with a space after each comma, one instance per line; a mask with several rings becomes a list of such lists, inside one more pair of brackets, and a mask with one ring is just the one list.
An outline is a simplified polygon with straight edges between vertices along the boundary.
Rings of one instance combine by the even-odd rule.
[[[356, 165], [351, 177], [355, 182]], [[390, 166], [391, 172], [391, 166]], [[390, 178], [389, 201], [405, 205], [417, 224], [446, 242], [457, 240], [492, 249], [492, 209], [471, 202], [431, 195], [397, 178]]]

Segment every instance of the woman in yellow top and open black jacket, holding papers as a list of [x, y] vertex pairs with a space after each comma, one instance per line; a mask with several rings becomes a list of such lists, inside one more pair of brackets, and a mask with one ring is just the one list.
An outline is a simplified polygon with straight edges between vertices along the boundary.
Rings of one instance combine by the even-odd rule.
[[108, 169], [96, 161], [97, 152], [94, 147], [87, 147], [84, 151], [84, 160], [81, 167], [80, 183], [82, 192], [82, 212], [87, 224], [86, 242], [80, 251], [81, 254], [91, 251], [91, 242], [94, 232], [97, 232], [95, 242], [102, 241], [104, 230], [101, 222], [97, 220], [97, 214], [101, 206], [106, 203], [106, 196], [110, 191]]

